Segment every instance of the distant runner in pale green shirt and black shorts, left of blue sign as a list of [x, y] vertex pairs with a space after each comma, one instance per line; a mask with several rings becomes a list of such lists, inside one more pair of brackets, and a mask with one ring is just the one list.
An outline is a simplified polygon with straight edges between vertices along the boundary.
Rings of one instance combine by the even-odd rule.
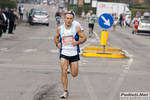
[[95, 14], [93, 14], [93, 11], [91, 10], [90, 15], [88, 15], [87, 17], [87, 21], [89, 23], [89, 37], [91, 37], [91, 32], [93, 34], [95, 20], [96, 20], [96, 16]]

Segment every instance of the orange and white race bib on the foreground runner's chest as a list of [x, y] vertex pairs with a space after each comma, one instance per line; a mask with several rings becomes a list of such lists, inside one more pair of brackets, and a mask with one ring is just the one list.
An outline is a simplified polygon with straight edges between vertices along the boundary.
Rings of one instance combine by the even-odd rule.
[[64, 45], [72, 45], [73, 33], [64, 33], [62, 34], [62, 41]]

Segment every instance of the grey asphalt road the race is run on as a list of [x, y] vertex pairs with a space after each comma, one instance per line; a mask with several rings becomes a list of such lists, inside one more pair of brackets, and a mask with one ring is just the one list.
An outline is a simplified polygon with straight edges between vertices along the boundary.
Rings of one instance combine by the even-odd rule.
[[[0, 100], [61, 100], [59, 50], [53, 40], [57, 6], [25, 4], [24, 7], [26, 11], [31, 8], [47, 10], [50, 26], [26, 27], [26, 23], [21, 22], [14, 35], [3, 34], [0, 39]], [[86, 20], [79, 17], [76, 20], [88, 38], [80, 45], [81, 50], [88, 45], [99, 46], [102, 29], [98, 23], [89, 38]], [[126, 58], [80, 55], [78, 76], [68, 75], [70, 94], [67, 100], [120, 100], [120, 92], [150, 92], [150, 34], [139, 33], [134, 37], [132, 28], [119, 26], [115, 31], [112, 28], [108, 31], [107, 46], [122, 48]]]

